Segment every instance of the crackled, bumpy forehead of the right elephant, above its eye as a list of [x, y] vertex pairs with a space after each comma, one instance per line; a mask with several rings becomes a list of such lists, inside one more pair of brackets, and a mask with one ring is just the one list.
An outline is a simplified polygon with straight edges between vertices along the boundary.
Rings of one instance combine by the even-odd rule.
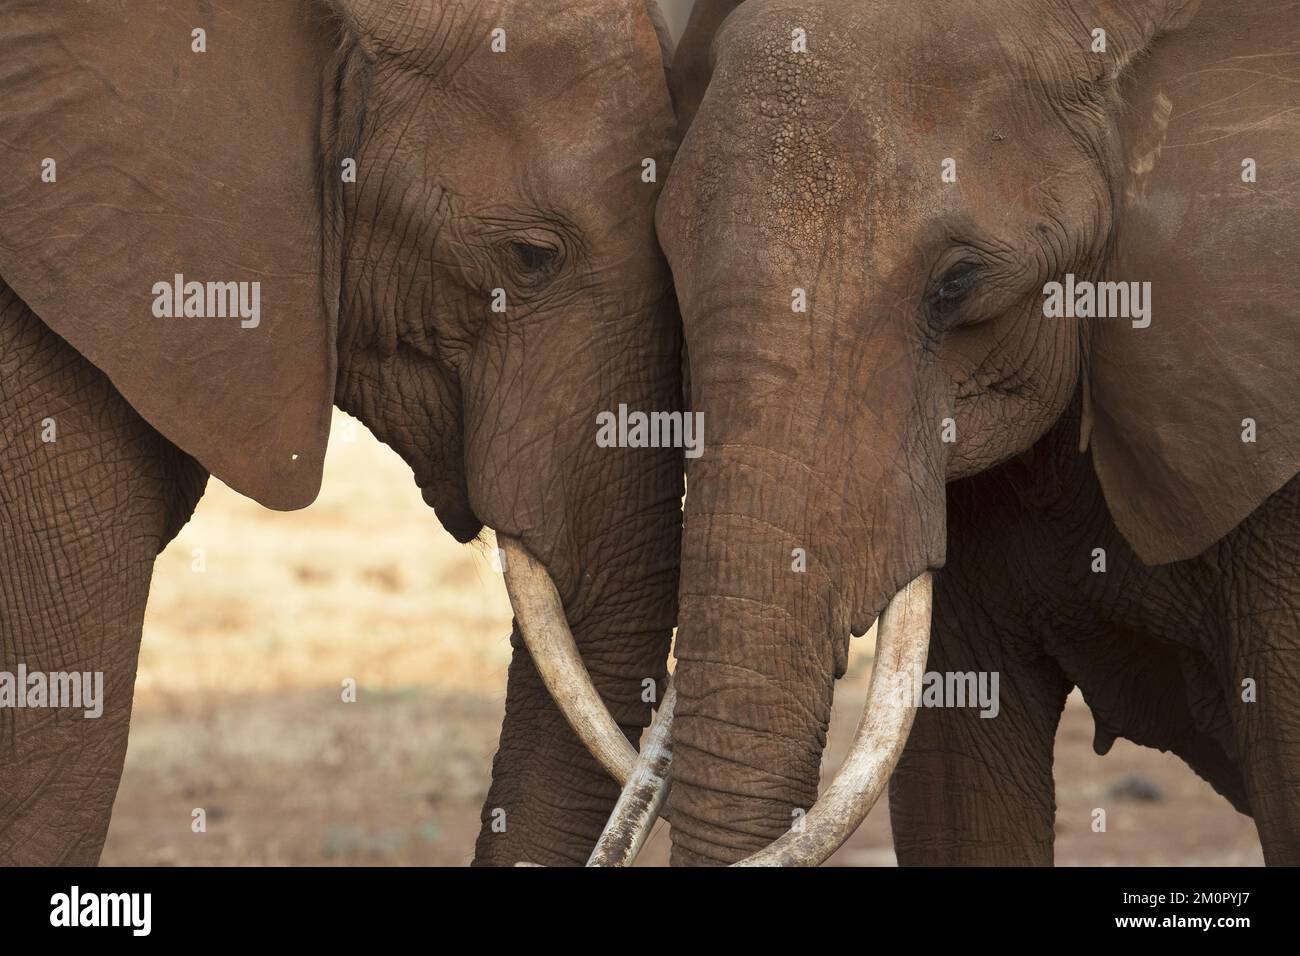
[[742, 221], [806, 251], [868, 239], [874, 221], [1019, 228], [1056, 166], [1082, 160], [1040, 122], [1046, 105], [1017, 92], [1005, 23], [942, 7], [948, 17], [888, 1], [740, 8], [677, 159], [671, 202], [689, 196], [690, 211], [675, 228]]

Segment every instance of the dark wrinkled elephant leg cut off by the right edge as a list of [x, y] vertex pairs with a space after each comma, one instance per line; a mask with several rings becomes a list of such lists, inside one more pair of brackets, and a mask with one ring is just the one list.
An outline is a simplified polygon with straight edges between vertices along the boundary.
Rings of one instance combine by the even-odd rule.
[[[1247, 800], [1269, 865], [1300, 865], [1300, 479], [1214, 551], [1231, 640], [1222, 656]], [[1221, 646], [1223, 646], [1221, 644]]]

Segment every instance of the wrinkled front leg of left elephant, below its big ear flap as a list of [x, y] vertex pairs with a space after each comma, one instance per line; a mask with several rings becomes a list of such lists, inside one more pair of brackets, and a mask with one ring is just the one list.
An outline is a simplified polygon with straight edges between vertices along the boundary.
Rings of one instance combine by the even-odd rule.
[[[207, 473], [3, 284], [0, 429], [0, 864], [92, 865], [126, 756], [153, 559]], [[30, 706], [42, 702], [31, 675], [53, 672], [101, 687], [92, 715], [51, 706], [66, 695]]]

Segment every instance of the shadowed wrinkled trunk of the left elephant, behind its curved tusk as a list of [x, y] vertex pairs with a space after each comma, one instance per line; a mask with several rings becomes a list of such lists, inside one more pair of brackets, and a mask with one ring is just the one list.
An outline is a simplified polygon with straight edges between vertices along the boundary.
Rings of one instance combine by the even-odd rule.
[[[554, 583], [582, 665], [630, 747], [650, 722], [646, 682], [655, 682], [658, 697], [667, 678], [681, 450], [601, 447], [597, 414], [620, 403], [680, 410], [680, 332], [662, 312], [675, 308], [670, 298], [620, 319], [630, 328], [620, 339], [625, 349], [610, 355], [594, 381], [572, 381], [569, 365], [556, 363], [551, 380], [519, 390], [515, 407], [503, 408], [495, 395], [472, 399], [472, 407], [488, 408], [489, 424], [469, 429], [488, 436], [477, 457], [471, 437], [471, 488], [491, 489], [480, 493], [476, 510]], [[629, 356], [644, 364], [632, 365]], [[502, 488], [506, 481], [512, 484]], [[519, 614], [516, 604], [506, 718], [474, 862], [581, 865], [620, 780], [578, 740], [543, 685]]]

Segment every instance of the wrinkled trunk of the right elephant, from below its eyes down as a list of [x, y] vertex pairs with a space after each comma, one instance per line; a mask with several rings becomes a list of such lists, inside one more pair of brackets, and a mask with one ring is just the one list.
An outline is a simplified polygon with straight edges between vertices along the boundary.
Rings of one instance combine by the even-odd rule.
[[688, 865], [800, 825], [850, 631], [942, 563], [941, 414], [919, 350], [794, 342], [818, 333], [790, 333], [788, 312], [706, 319], [690, 337], [707, 450], [686, 499], [670, 797]]

